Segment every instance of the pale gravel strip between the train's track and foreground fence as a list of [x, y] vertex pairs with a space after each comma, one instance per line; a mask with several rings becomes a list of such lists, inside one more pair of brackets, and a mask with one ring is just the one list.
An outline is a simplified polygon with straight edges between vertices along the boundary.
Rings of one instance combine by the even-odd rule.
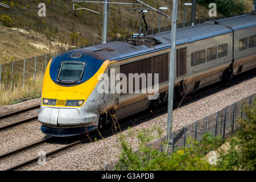
[[[218, 110], [256, 93], [255, 85], [256, 77], [251, 77], [228, 89], [218, 91], [207, 97], [201, 97], [199, 100], [181, 106], [173, 112], [173, 130], [180, 129], [209, 114], [216, 113]], [[131, 130], [150, 129], [153, 126], [160, 126], [163, 131], [166, 131], [167, 113], [143, 122]], [[122, 131], [122, 133], [127, 133], [127, 130]], [[28, 135], [30, 136], [29, 139], [33, 138], [31, 135], [35, 136], [33, 133]], [[24, 141], [22, 137], [19, 139]], [[137, 146], [136, 140], [131, 139], [130, 142], [135, 149]], [[54, 158], [50, 158], [47, 164], [40, 165], [36, 163], [21, 170], [99, 170], [104, 168], [105, 165], [116, 162], [120, 152], [117, 135], [112, 135], [98, 142], [82, 144], [73, 148], [73, 150], [57, 154]]]

